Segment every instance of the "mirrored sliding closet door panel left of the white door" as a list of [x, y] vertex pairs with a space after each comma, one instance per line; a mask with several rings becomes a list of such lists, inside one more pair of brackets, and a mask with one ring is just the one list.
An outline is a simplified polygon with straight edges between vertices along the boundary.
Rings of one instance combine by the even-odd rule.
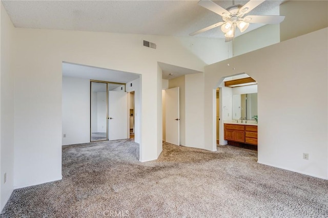
[[107, 83], [91, 82], [90, 141], [107, 140]]

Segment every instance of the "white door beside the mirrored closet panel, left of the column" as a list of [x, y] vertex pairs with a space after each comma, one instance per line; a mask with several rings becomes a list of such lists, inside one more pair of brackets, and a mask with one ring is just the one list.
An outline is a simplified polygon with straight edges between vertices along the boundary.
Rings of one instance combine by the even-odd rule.
[[128, 139], [128, 93], [108, 92], [108, 140]]

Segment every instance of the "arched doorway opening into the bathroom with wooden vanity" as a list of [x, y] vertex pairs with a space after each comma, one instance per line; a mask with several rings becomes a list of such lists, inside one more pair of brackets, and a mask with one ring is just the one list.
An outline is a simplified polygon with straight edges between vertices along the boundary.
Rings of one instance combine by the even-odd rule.
[[236, 74], [222, 77], [218, 87], [215, 114], [216, 134], [219, 137], [216, 138], [216, 142], [219, 139], [220, 145], [229, 144], [256, 150], [258, 146], [256, 80], [245, 73]]

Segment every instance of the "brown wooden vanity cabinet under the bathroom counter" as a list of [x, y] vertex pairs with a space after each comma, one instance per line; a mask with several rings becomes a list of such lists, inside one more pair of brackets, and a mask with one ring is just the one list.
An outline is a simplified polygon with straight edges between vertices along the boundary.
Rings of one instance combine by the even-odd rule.
[[224, 140], [257, 145], [257, 126], [224, 124]]

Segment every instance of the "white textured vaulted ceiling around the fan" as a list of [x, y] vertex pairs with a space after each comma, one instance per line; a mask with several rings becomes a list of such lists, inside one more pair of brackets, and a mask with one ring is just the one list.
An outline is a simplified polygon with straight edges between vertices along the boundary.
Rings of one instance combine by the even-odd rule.
[[[2, 1], [18, 28], [188, 36], [221, 17], [198, 1]], [[232, 1], [214, 1], [223, 8]], [[235, 1], [244, 5], [248, 1]], [[265, 1], [249, 14], [279, 15], [282, 1]], [[251, 24], [248, 31], [261, 25]], [[196, 37], [222, 38], [220, 28]]]

